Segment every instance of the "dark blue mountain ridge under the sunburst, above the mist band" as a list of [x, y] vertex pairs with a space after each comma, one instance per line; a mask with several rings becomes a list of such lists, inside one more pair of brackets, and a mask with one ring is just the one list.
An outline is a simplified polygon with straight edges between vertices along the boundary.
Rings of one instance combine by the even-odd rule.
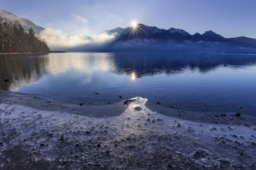
[[133, 40], [154, 40], [157, 42], [215, 42], [215, 43], [225, 43], [230, 46], [239, 46], [244, 48], [256, 48], [256, 39], [247, 38], [244, 36], [236, 38], [225, 38], [213, 32], [211, 30], [199, 34], [196, 32], [194, 35], [189, 34], [183, 29], [159, 29], [155, 26], [145, 26], [143, 24], [138, 24], [137, 28], [127, 27], [127, 28], [116, 28], [108, 33], [118, 32], [119, 36], [113, 43], [117, 42], [128, 42]]

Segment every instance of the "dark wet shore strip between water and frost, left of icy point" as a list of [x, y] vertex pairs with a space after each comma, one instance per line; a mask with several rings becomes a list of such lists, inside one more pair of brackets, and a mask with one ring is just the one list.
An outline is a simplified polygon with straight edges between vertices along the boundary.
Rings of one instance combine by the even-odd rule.
[[88, 117], [112, 117], [122, 114], [127, 105], [122, 102], [106, 105], [65, 104], [47, 97], [0, 91], [0, 102], [5, 104], [20, 104], [39, 110], [60, 111], [71, 114], [81, 114]]

